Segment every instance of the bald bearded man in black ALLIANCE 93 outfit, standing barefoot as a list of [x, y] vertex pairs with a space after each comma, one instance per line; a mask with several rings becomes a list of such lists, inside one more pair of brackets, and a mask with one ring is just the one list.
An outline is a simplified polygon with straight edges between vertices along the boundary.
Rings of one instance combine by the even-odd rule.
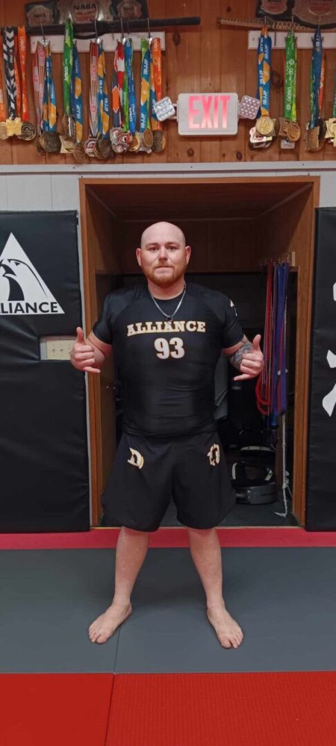
[[214, 424], [214, 370], [223, 349], [238, 379], [257, 376], [261, 338], [246, 339], [225, 295], [184, 282], [190, 251], [176, 225], [146, 228], [136, 253], [147, 284], [111, 292], [87, 339], [78, 327], [72, 348], [75, 368], [99, 373], [113, 344], [122, 380], [123, 435], [102, 498], [105, 525], [122, 526], [115, 593], [90, 625], [92, 642], [106, 642], [131, 614], [149, 534], [171, 495], [188, 530], [208, 620], [224, 648], [243, 640], [225, 608], [215, 529], [234, 497]]

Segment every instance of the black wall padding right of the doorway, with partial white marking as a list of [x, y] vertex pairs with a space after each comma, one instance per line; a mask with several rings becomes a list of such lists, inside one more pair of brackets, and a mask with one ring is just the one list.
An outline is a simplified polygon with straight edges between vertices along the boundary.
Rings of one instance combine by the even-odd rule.
[[316, 213], [306, 528], [336, 530], [336, 207]]

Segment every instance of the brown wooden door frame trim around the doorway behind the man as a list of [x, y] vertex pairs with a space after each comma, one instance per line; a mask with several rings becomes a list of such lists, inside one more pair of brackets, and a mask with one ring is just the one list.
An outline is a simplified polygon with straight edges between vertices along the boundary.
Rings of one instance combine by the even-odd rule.
[[[87, 221], [87, 190], [90, 193], [94, 191], [94, 186], [118, 186], [118, 184], [129, 184], [137, 187], [146, 186], [146, 184], [274, 184], [274, 183], [293, 182], [302, 186], [301, 191], [311, 189], [309, 219], [305, 218], [302, 223], [302, 230], [306, 233], [306, 242], [308, 247], [308, 256], [306, 256], [304, 270], [298, 267], [298, 282], [302, 283], [305, 288], [305, 294], [299, 309], [301, 323], [296, 325], [296, 381], [295, 381], [295, 407], [294, 407], [294, 466], [293, 466], [293, 513], [296, 515], [299, 523], [305, 525], [305, 488], [306, 488], [306, 465], [307, 465], [307, 445], [308, 445], [308, 394], [309, 394], [309, 372], [310, 372], [310, 343], [311, 343], [311, 310], [312, 310], [312, 289], [313, 289], [313, 271], [314, 271], [314, 220], [315, 209], [319, 206], [320, 198], [320, 177], [311, 175], [300, 176], [249, 176], [243, 175], [237, 177], [202, 177], [197, 176], [176, 176], [164, 178], [164, 175], [158, 178], [147, 177], [146, 174], [130, 177], [109, 177], [109, 178], [81, 178], [80, 189], [80, 209], [81, 209], [81, 246], [83, 261], [83, 280], [84, 280], [84, 310], [85, 326], [87, 333], [96, 320], [96, 297], [93, 278], [93, 262], [90, 257], [90, 240], [88, 236]], [[295, 195], [293, 196], [295, 198]], [[99, 201], [99, 198], [97, 198]], [[290, 200], [288, 200], [290, 201]], [[271, 254], [270, 254], [271, 256]], [[274, 258], [274, 257], [273, 257]], [[111, 273], [113, 274], [113, 273]], [[98, 376], [87, 376], [87, 392], [89, 399], [89, 442], [90, 442], [90, 479], [92, 494], [92, 521], [93, 527], [99, 524], [99, 500], [102, 486], [99, 484], [99, 465], [101, 458], [99, 454], [102, 451], [102, 433], [100, 427], [101, 407], [99, 385], [96, 380]], [[299, 426], [300, 423], [300, 426]]]

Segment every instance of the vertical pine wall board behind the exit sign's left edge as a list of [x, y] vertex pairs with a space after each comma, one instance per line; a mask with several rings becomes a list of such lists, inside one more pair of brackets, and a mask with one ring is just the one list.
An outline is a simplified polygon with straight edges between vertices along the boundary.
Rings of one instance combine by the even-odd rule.
[[[203, 0], [204, 1], [204, 0]], [[183, 16], [200, 16], [201, 0], [167, 0], [166, 8], [172, 18]], [[176, 43], [174, 43], [176, 40]], [[178, 93], [197, 93], [200, 88], [200, 57], [202, 43], [199, 29], [190, 27], [169, 29], [166, 33], [167, 57], [167, 92], [172, 102], [177, 101]], [[167, 122], [169, 163], [199, 163], [201, 145], [199, 137], [181, 137], [178, 125], [174, 120]]]

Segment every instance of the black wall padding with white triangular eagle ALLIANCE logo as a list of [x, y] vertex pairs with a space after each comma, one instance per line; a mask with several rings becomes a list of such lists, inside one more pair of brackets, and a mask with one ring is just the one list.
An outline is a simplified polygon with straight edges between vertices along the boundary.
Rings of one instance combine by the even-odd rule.
[[[74, 211], [0, 213], [3, 533], [90, 528], [84, 374], [40, 359], [41, 336], [81, 325], [77, 223]], [[27, 295], [42, 313], [22, 313]], [[34, 306], [37, 296], [46, 302]]]

